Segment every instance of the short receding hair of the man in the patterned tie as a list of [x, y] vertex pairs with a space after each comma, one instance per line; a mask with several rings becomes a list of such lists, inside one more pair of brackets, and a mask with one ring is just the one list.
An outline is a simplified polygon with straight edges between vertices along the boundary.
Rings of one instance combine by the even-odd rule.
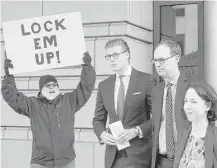
[[161, 45], [169, 47], [171, 56], [173, 56], [173, 55], [179, 55], [180, 57], [182, 56], [181, 47], [176, 41], [173, 41], [173, 40], [161, 40], [161, 42], [156, 45], [156, 48], [161, 46]]

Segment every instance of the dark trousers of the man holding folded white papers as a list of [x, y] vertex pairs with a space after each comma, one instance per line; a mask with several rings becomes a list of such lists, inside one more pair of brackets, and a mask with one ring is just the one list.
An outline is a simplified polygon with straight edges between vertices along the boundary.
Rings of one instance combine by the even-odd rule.
[[142, 168], [142, 165], [129, 163], [125, 150], [117, 151], [111, 168]]

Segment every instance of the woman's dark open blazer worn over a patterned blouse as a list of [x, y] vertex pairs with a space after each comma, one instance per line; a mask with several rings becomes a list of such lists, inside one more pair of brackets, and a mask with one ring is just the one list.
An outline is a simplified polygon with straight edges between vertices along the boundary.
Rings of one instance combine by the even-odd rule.
[[[173, 168], [179, 167], [179, 162], [191, 133], [191, 126], [185, 130], [176, 146]], [[217, 168], [217, 127], [209, 123], [205, 137], [205, 168]]]

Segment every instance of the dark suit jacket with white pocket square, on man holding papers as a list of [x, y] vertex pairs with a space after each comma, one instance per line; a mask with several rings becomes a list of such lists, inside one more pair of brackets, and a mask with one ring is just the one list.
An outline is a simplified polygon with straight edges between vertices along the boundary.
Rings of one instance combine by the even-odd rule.
[[[95, 117], [93, 127], [100, 140], [101, 133], [106, 130], [107, 116], [109, 123], [118, 121], [118, 116], [114, 107], [114, 87], [116, 75], [102, 81], [99, 84]], [[123, 127], [125, 129], [139, 126], [143, 133], [143, 138], [136, 137], [130, 140], [130, 147], [126, 148], [129, 162], [150, 167], [151, 161], [151, 87], [152, 75], [137, 71], [132, 68], [129, 86], [125, 98], [123, 112]], [[135, 94], [133, 93], [139, 93]], [[110, 168], [115, 159], [116, 146], [106, 145], [105, 168]]]

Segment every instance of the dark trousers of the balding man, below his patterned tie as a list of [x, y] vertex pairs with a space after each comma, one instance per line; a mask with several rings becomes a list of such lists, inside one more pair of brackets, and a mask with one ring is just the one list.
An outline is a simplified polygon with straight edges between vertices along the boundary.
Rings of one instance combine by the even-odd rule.
[[164, 155], [158, 154], [156, 168], [173, 168], [173, 159], [169, 159]]

